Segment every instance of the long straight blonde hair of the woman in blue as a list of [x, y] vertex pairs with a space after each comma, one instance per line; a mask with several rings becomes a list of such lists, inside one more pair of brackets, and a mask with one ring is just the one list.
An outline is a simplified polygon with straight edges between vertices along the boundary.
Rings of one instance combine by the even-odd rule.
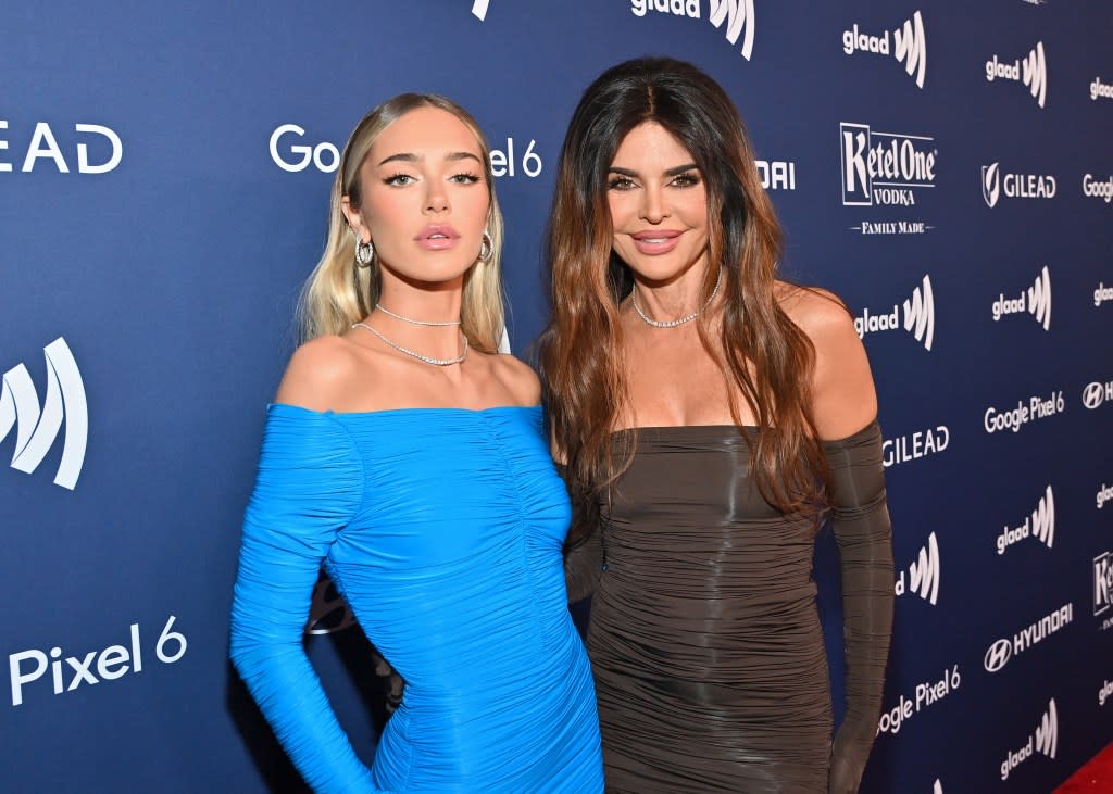
[[452, 113], [475, 135], [483, 152], [483, 170], [491, 201], [487, 218], [487, 234], [491, 236], [491, 257], [475, 264], [464, 275], [464, 289], [460, 306], [461, 329], [467, 344], [484, 353], [495, 353], [503, 331], [502, 277], [500, 259], [502, 255], [502, 212], [494, 193], [494, 178], [491, 173], [491, 148], [471, 113], [462, 107], [435, 93], [400, 93], [386, 100], [356, 125], [344, 147], [339, 168], [328, 199], [328, 240], [325, 252], [313, 269], [298, 301], [297, 317], [302, 329], [302, 341], [308, 341], [326, 334], [343, 334], [353, 322], [371, 314], [378, 301], [381, 276], [378, 262], [373, 259], [370, 267], [357, 267], [355, 262], [355, 235], [348, 227], [341, 208], [347, 196], [353, 206], [358, 207], [359, 167], [380, 133], [418, 108], [439, 108]]

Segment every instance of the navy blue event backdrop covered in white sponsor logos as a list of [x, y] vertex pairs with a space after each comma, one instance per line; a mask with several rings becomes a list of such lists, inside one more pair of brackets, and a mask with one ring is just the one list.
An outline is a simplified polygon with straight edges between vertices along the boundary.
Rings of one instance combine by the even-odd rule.
[[[7, 7], [0, 787], [302, 788], [227, 614], [337, 150], [401, 91], [474, 112], [528, 356], [571, 110], [663, 53], [735, 99], [785, 272], [845, 298], [871, 358], [898, 595], [863, 791], [1052, 790], [1113, 738], [1111, 33], [1102, 0]], [[840, 716], [829, 532], [816, 578]], [[318, 601], [311, 655], [370, 760], [365, 641]]]

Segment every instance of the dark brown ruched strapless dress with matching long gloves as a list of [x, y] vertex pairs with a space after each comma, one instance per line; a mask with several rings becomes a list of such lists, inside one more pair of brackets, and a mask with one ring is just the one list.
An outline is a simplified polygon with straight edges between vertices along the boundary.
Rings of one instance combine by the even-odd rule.
[[761, 498], [736, 427], [637, 433], [600, 530], [565, 560], [570, 596], [594, 592], [588, 648], [607, 791], [856, 791], [893, 616], [876, 421], [824, 444], [847, 661], [834, 756], [811, 523]]

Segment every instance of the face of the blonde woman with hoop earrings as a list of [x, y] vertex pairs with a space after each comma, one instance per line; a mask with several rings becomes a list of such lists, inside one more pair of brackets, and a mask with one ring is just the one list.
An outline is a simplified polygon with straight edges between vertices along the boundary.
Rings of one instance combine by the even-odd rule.
[[413, 281], [461, 277], [479, 256], [490, 199], [475, 135], [446, 110], [417, 108], [380, 132], [345, 215], [387, 270]]

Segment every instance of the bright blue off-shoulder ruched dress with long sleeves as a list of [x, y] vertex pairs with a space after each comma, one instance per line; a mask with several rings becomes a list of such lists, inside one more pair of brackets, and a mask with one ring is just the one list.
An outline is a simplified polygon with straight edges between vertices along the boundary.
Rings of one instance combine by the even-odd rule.
[[[230, 653], [315, 791], [603, 790], [569, 517], [540, 407], [269, 406]], [[370, 770], [302, 645], [322, 563], [406, 681]]]

